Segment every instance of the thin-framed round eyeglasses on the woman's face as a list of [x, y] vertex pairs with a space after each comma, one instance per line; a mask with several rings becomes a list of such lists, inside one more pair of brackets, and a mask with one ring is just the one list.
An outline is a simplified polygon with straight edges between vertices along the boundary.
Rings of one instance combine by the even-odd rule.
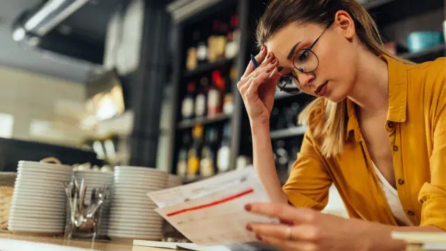
[[[331, 24], [330, 24], [331, 25]], [[284, 91], [289, 94], [297, 94], [302, 89], [300, 86], [300, 82], [298, 76], [293, 73], [293, 70], [296, 69], [301, 73], [313, 73], [319, 66], [319, 59], [316, 56], [316, 53], [312, 51], [314, 45], [318, 43], [319, 38], [323, 35], [323, 33], [330, 27], [328, 25], [321, 33], [318, 38], [310, 45], [308, 48], [303, 48], [298, 51], [297, 54], [293, 57], [293, 68], [291, 72], [279, 78], [277, 81], [277, 87], [279, 87], [280, 91]]]

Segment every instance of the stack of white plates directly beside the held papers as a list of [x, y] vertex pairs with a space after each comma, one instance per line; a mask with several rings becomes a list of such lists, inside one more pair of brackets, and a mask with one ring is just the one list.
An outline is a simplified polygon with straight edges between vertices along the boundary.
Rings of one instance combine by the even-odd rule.
[[160, 240], [162, 218], [147, 192], [167, 188], [169, 174], [148, 167], [115, 167], [110, 211], [110, 238]]

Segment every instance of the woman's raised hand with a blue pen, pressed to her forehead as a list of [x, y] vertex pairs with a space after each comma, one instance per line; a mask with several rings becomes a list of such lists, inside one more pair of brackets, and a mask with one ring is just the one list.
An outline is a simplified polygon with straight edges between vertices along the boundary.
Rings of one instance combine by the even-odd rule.
[[252, 61], [246, 68], [245, 74], [238, 82], [238, 91], [251, 123], [268, 123], [274, 105], [274, 96], [279, 73], [277, 73], [277, 59], [266, 53], [266, 47], [257, 54], [256, 61], [259, 67], [254, 70]]

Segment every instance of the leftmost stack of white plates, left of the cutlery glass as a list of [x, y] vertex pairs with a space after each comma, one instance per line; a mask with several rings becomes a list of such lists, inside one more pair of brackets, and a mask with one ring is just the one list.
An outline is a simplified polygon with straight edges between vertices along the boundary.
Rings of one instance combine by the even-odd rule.
[[21, 233], [61, 234], [65, 227], [66, 192], [72, 167], [20, 161], [17, 167], [8, 230]]

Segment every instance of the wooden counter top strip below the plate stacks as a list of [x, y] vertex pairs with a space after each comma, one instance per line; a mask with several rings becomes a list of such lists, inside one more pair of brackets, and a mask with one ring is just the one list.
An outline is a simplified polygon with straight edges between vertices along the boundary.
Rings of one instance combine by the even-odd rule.
[[89, 240], [64, 240], [63, 237], [44, 237], [44, 236], [26, 236], [20, 234], [12, 234], [8, 231], [0, 231], [0, 239], [10, 239], [19, 241], [32, 241], [37, 243], [47, 243], [55, 245], [63, 245], [73, 248], [84, 248], [87, 250], [107, 250], [107, 251], [167, 251], [164, 248], [148, 248], [138, 247], [129, 241], [104, 241], [98, 240], [92, 244]]

